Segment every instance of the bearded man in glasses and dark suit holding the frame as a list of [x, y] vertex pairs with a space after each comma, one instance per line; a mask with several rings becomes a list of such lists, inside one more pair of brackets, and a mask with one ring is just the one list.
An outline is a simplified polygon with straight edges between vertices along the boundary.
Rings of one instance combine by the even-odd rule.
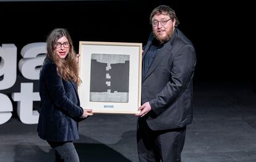
[[177, 29], [176, 14], [158, 6], [150, 15], [153, 34], [143, 48], [142, 106], [137, 124], [140, 161], [181, 161], [186, 126], [192, 122], [196, 56]]

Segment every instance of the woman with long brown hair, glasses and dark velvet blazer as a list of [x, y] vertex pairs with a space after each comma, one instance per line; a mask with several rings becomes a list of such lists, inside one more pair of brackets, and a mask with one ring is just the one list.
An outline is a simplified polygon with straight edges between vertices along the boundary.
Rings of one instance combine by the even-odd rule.
[[92, 116], [82, 109], [77, 93], [81, 83], [77, 56], [67, 30], [54, 29], [47, 38], [47, 54], [40, 73], [38, 135], [54, 149], [56, 161], [79, 161], [74, 140], [78, 122]]

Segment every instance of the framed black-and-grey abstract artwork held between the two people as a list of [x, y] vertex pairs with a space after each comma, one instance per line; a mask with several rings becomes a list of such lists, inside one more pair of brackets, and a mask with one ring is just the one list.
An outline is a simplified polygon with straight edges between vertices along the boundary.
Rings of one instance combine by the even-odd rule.
[[139, 113], [142, 43], [79, 42], [80, 105], [93, 113]]

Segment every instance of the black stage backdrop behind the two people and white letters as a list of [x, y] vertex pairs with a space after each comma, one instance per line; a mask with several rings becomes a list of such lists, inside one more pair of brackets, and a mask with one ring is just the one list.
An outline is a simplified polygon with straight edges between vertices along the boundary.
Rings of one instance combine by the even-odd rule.
[[[253, 5], [246, 1], [226, 4], [221, 1], [0, 2], [0, 46], [15, 44], [19, 62], [23, 46], [45, 41], [48, 33], [57, 27], [69, 30], [77, 52], [79, 41], [145, 45], [151, 32], [150, 13], [160, 4], [176, 11], [181, 22], [178, 28], [194, 43], [195, 83], [223, 80], [254, 83], [255, 52], [251, 47], [255, 32], [250, 30], [255, 18]], [[19, 92], [20, 82], [34, 82], [34, 92], [38, 92], [38, 81], [24, 79], [18, 69], [17, 76], [14, 87], [0, 93]]]

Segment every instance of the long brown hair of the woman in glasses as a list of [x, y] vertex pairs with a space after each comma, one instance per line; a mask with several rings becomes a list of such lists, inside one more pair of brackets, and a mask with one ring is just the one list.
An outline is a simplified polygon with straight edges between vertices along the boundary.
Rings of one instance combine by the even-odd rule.
[[[54, 53], [54, 45], [62, 36], [66, 36], [69, 41], [69, 53], [65, 59], [59, 58], [58, 54]], [[46, 59], [51, 59], [57, 66], [59, 76], [64, 80], [72, 80], [77, 85], [80, 85], [81, 79], [79, 78], [79, 67], [74, 51], [74, 46], [71, 37], [66, 29], [56, 28], [48, 36], [47, 40], [47, 55]]]

